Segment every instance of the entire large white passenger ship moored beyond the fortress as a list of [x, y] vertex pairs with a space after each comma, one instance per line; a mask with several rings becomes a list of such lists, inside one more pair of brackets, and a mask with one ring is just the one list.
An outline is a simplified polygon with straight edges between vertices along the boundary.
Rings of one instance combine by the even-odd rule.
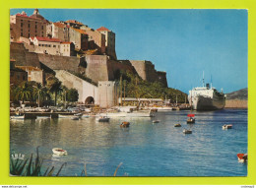
[[220, 93], [209, 84], [203, 87], [194, 88], [188, 94], [189, 104], [196, 110], [223, 109], [225, 104], [225, 94]]

